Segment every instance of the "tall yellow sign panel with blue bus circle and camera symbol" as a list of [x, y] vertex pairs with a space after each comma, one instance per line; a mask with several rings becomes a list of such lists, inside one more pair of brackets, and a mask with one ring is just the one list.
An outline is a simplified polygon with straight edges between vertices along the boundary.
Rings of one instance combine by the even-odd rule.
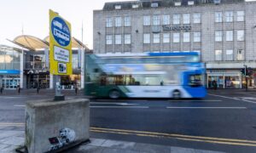
[[49, 72], [72, 75], [71, 25], [49, 9]]

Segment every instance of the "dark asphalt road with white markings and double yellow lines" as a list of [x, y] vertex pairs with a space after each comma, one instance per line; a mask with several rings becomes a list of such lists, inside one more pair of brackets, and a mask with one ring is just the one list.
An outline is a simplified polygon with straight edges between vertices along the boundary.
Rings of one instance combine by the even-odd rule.
[[[24, 130], [26, 100], [46, 98], [49, 96], [1, 96], [0, 129]], [[79, 97], [67, 97], [73, 98]], [[212, 91], [206, 99], [90, 102], [91, 137], [201, 150], [256, 152], [255, 118], [256, 94], [241, 90]]]

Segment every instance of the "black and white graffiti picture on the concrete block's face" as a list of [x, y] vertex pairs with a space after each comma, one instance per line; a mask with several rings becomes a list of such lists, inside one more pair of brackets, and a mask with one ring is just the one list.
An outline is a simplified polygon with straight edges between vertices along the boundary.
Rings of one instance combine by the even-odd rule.
[[49, 150], [57, 150], [64, 145], [72, 143], [75, 140], [75, 137], [76, 133], [73, 131], [73, 129], [67, 127], [62, 128], [59, 136], [49, 138], [49, 144], [51, 144]]

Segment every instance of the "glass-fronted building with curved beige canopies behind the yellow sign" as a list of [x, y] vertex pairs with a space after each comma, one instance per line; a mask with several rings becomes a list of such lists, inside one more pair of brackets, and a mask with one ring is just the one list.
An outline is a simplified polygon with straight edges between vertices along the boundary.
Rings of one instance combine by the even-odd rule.
[[[55, 77], [49, 73], [47, 38], [21, 35], [11, 41], [21, 48], [0, 45], [0, 88], [55, 88]], [[72, 52], [73, 75], [61, 76], [62, 89], [84, 88], [84, 54], [90, 49], [73, 38]]]

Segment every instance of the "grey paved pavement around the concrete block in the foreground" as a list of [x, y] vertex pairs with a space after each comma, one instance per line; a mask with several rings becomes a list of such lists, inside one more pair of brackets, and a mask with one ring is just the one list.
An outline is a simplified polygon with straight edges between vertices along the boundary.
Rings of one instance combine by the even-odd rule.
[[[0, 130], [0, 153], [15, 153], [15, 149], [24, 145], [24, 131]], [[159, 144], [143, 144], [112, 139], [90, 138], [89, 144], [81, 144], [67, 153], [220, 153], [212, 150], [195, 150]]]

